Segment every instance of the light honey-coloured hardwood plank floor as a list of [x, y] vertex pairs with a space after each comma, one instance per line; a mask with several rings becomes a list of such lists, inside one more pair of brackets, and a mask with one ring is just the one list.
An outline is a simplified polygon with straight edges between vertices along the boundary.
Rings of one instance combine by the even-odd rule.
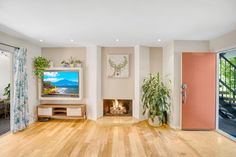
[[214, 131], [175, 131], [147, 122], [102, 125], [89, 120], [37, 122], [0, 137], [1, 157], [235, 157], [236, 143]]

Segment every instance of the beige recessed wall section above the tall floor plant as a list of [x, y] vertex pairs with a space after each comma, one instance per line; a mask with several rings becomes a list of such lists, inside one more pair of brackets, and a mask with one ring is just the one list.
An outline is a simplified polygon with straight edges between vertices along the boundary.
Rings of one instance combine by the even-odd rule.
[[150, 47], [150, 73], [160, 73], [162, 75], [162, 47]]

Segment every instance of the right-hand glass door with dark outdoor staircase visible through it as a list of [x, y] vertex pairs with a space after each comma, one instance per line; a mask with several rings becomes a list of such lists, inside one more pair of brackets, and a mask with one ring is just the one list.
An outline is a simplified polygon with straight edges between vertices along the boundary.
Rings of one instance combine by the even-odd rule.
[[236, 49], [219, 53], [218, 129], [236, 139]]

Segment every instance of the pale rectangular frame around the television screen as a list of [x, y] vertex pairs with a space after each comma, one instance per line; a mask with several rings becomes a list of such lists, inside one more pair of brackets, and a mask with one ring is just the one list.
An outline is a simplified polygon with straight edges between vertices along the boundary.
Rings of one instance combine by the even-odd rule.
[[64, 67], [54, 67], [46, 69], [46, 71], [79, 71], [79, 91], [81, 92], [79, 97], [42, 97], [41, 96], [41, 86], [42, 81], [41, 79], [38, 79], [38, 98], [39, 100], [75, 100], [80, 101], [83, 98], [83, 69], [82, 68], [64, 68]]

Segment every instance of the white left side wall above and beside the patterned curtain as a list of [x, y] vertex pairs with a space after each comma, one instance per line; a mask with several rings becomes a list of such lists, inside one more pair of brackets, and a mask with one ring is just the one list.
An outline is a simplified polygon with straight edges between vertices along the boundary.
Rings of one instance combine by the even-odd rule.
[[[3, 32], [0, 32], [0, 42], [14, 45], [17, 47], [27, 48], [27, 73], [28, 73], [28, 99], [30, 111], [30, 123], [36, 119], [36, 106], [39, 101], [37, 98], [36, 79], [33, 74], [32, 59], [41, 56], [41, 48], [27, 41], [12, 37]], [[6, 47], [5, 47], [6, 48]]]

